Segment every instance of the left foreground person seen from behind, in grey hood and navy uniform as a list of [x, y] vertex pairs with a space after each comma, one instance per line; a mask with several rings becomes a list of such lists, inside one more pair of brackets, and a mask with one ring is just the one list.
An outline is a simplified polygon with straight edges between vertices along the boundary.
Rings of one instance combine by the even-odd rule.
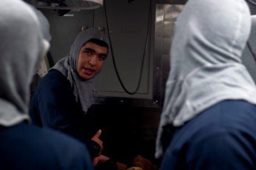
[[83, 143], [28, 124], [30, 85], [49, 48], [31, 7], [1, 0], [0, 37], [0, 169], [93, 169]]

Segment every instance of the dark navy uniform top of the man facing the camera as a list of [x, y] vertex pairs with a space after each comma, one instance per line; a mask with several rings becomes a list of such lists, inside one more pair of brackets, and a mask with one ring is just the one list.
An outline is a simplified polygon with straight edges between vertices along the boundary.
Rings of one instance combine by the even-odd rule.
[[75, 101], [70, 82], [57, 70], [49, 73], [32, 96], [32, 121], [77, 138], [92, 153], [95, 143], [86, 134], [82, 109]]

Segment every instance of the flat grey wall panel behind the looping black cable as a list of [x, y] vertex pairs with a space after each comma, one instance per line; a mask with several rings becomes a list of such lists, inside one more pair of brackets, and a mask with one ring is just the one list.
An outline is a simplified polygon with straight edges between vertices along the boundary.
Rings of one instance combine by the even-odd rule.
[[105, 5], [95, 10], [94, 25], [108, 26], [112, 51], [95, 80], [98, 95], [152, 99], [154, 18], [150, 1], [105, 1]]

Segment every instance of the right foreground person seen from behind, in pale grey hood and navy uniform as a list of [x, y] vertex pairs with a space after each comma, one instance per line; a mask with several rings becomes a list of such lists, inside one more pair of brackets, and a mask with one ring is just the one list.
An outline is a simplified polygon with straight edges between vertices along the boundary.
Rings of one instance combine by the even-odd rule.
[[190, 0], [178, 16], [156, 141], [161, 169], [256, 169], [256, 89], [241, 63], [244, 0]]

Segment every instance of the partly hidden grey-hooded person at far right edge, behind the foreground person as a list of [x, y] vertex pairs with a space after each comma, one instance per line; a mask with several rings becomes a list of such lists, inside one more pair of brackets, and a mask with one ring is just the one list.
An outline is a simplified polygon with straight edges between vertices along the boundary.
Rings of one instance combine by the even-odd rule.
[[251, 15], [251, 33], [242, 54], [242, 63], [256, 82], [256, 15]]

